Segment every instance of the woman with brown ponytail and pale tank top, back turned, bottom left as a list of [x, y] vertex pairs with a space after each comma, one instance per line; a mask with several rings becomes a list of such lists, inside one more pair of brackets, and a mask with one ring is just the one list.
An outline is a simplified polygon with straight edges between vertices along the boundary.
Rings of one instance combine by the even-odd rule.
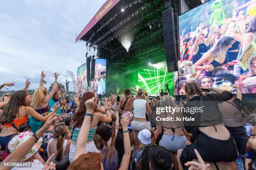
[[66, 140], [67, 129], [64, 122], [54, 126], [54, 138], [49, 140], [47, 154], [50, 157], [53, 153], [55, 157], [52, 161], [56, 164], [56, 170], [66, 170], [69, 166], [69, 148], [71, 140]]

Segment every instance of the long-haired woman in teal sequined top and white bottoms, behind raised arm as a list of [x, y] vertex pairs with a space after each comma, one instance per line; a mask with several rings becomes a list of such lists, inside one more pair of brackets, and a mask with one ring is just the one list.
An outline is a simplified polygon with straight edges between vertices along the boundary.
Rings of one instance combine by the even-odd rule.
[[[95, 95], [92, 92], [85, 92], [82, 95], [81, 101], [79, 103], [79, 107], [77, 107], [76, 112], [74, 113], [74, 117], [73, 117], [73, 121], [74, 121], [74, 129], [73, 129], [73, 134], [72, 134], [72, 143], [70, 145], [70, 150], [69, 150], [69, 162], [71, 163], [73, 158], [74, 158], [74, 152], [75, 152], [75, 148], [76, 148], [76, 144], [77, 144], [77, 137], [80, 131], [80, 128], [82, 126], [82, 123], [84, 121], [84, 114], [86, 112], [86, 106], [85, 106], [85, 102], [91, 98], [95, 97]], [[98, 152], [100, 153], [99, 150], [97, 150], [95, 143], [93, 141], [93, 136], [96, 132], [97, 129], [97, 124], [99, 121], [101, 122], [111, 122], [112, 118], [110, 115], [110, 105], [112, 102], [112, 97], [110, 97], [109, 102], [105, 102], [104, 106], [105, 106], [105, 112], [107, 114], [107, 116], [103, 115], [100, 112], [97, 112], [96, 110], [98, 110], [98, 107], [95, 107], [95, 110], [93, 112], [93, 116], [91, 119], [91, 123], [90, 123], [90, 129], [89, 129], [89, 135], [87, 138], [87, 145], [86, 145], [86, 151], [87, 152]]]

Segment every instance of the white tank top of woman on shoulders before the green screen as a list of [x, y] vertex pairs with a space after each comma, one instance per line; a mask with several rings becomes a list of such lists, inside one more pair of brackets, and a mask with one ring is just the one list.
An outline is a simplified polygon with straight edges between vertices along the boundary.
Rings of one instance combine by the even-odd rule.
[[133, 101], [134, 117], [145, 118], [146, 117], [146, 101], [143, 99], [136, 99]]

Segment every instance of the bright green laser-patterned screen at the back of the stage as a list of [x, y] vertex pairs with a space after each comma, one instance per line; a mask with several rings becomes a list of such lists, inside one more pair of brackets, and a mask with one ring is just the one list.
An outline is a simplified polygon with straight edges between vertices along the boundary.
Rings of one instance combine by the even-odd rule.
[[173, 72], [169, 73], [167, 71], [166, 61], [156, 63], [138, 71], [137, 88], [145, 89], [148, 94], [158, 94], [159, 89], [166, 92], [167, 84], [170, 94], [173, 94], [173, 82]]

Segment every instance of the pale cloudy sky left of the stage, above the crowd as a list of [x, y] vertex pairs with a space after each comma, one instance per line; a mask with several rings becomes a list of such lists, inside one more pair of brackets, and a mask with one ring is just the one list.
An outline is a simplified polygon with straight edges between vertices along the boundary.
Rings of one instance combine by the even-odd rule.
[[[75, 41], [106, 0], [3, 0], [0, 1], [0, 84], [16, 82], [10, 90], [36, 89], [41, 78], [73, 89], [67, 70], [77, 77], [77, 67], [85, 62], [84, 42]], [[6, 89], [2, 89], [6, 90]], [[73, 90], [72, 90], [73, 91]]]

